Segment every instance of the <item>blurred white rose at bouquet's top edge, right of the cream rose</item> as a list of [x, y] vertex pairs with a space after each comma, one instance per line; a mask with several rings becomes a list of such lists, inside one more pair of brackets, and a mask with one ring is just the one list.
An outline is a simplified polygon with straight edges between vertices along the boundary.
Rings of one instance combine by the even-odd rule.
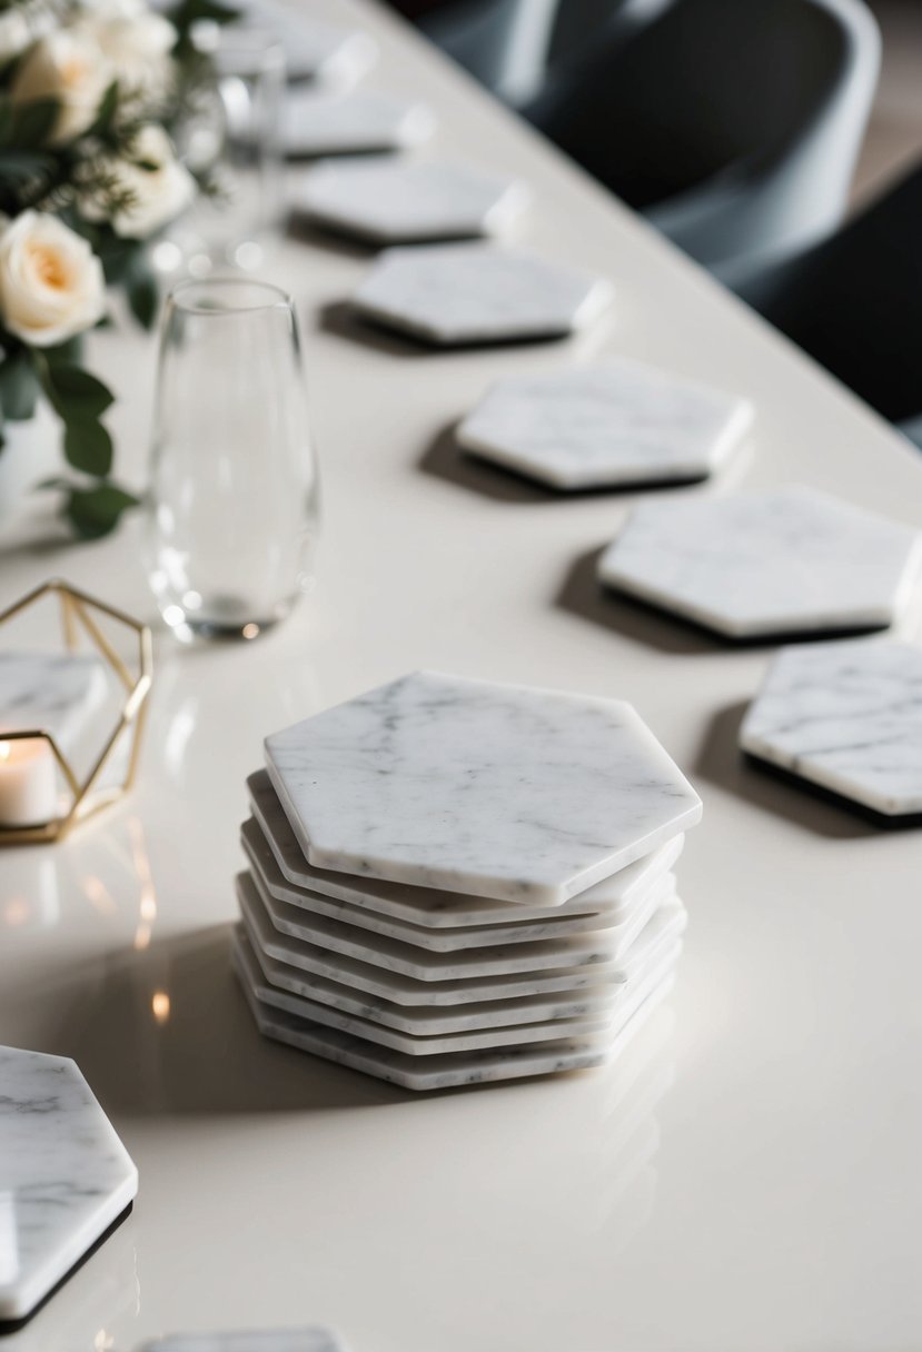
[[72, 31], [95, 42], [130, 95], [160, 97], [173, 80], [176, 28], [132, 0], [103, 0]]

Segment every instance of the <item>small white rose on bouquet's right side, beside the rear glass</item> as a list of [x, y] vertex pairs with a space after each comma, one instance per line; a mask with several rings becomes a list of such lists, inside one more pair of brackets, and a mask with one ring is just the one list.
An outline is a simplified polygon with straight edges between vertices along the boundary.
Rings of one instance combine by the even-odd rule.
[[[135, 161], [141, 161], [137, 164]], [[155, 169], [145, 168], [155, 165]], [[123, 239], [146, 239], [184, 211], [196, 195], [196, 183], [173, 153], [162, 127], [149, 123], [131, 145], [131, 160], [108, 158], [103, 162], [108, 180], [107, 192], [127, 196], [127, 204], [110, 212], [105, 196], [85, 195], [80, 212], [87, 220], [108, 220]]]

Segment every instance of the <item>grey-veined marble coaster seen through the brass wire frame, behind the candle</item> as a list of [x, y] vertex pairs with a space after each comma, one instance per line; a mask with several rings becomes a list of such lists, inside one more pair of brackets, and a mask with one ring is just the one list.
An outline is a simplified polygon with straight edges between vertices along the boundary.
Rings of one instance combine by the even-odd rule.
[[45, 729], [72, 750], [105, 703], [107, 688], [99, 657], [0, 652], [0, 735]]

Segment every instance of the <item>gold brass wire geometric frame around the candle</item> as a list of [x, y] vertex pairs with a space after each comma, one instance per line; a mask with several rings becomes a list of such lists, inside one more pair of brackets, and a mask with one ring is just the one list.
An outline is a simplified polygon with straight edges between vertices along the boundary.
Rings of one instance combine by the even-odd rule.
[[[145, 726], [145, 714], [147, 710], [147, 696], [153, 681], [154, 661], [150, 629], [139, 621], [131, 619], [131, 617], [126, 615], [123, 611], [115, 610], [115, 607], [107, 606], [101, 600], [96, 600], [95, 596], [88, 596], [87, 592], [78, 591], [76, 587], [70, 587], [58, 577], [53, 577], [50, 581], [42, 583], [41, 587], [35, 588], [35, 591], [28, 592], [27, 596], [14, 602], [14, 604], [7, 610], [0, 611], [0, 626], [5, 625], [7, 621], [14, 619], [30, 606], [34, 606], [37, 602], [42, 600], [42, 598], [49, 595], [57, 595], [59, 598], [61, 625], [68, 650], [73, 652], [76, 649], [77, 635], [82, 630], [111, 671], [115, 672], [119, 683], [124, 687], [124, 703], [122, 704], [122, 711], [115, 729], [107, 737], [101, 752], [93, 761], [82, 783], [77, 777], [73, 765], [64, 754], [51, 733], [46, 729], [35, 727], [15, 733], [4, 733], [0, 730], [0, 741], [3, 742], [47, 742], [51, 748], [51, 754], [64, 775], [68, 790], [70, 791], [69, 808], [61, 817], [54, 818], [54, 821], [42, 822], [35, 826], [0, 826], [0, 845], [30, 845], [62, 840], [78, 822], [88, 821], [91, 817], [103, 811], [103, 808], [110, 807], [112, 803], [118, 803], [122, 798], [124, 798], [134, 784], [138, 772], [138, 757], [141, 753], [141, 738]], [[122, 661], [110, 641], [105, 638], [105, 634], [103, 634], [99, 625], [93, 619], [92, 611], [96, 611], [100, 615], [108, 615], [110, 619], [116, 621], [119, 625], [124, 625], [137, 635], [137, 676], [131, 673], [128, 667]], [[131, 737], [131, 752], [128, 754], [128, 767], [123, 781], [120, 784], [112, 784], [110, 788], [96, 788], [103, 771], [110, 763], [110, 758], [123, 735]]]

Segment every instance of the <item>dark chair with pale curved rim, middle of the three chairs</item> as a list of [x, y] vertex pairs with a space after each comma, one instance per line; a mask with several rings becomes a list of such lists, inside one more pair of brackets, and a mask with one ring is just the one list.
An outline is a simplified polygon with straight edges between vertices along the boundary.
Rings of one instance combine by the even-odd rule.
[[708, 266], [840, 223], [880, 62], [863, 0], [675, 0], [523, 111]]

